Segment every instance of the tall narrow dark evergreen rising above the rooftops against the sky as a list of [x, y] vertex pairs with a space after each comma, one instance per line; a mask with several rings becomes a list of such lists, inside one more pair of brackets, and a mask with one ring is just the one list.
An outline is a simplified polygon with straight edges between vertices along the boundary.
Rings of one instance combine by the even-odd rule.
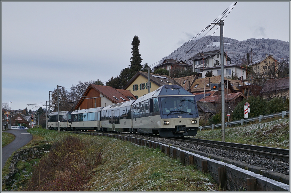
[[132, 40], [132, 57], [130, 57], [130, 70], [129, 70], [129, 79], [130, 80], [137, 71], [141, 71], [143, 69], [143, 65], [141, 64], [141, 62], [143, 61], [143, 59], [141, 58], [141, 54], [139, 53], [139, 36], [134, 36], [133, 40]]

